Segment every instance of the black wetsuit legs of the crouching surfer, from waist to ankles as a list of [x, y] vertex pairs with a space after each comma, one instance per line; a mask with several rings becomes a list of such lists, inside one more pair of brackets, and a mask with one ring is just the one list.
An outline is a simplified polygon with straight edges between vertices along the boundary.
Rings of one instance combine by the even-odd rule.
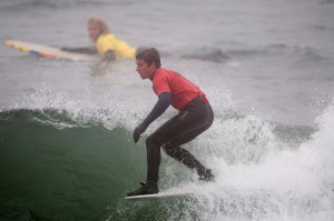
[[197, 173], [205, 167], [180, 145], [187, 143], [207, 130], [214, 121], [214, 112], [209, 104], [196, 97], [174, 118], [165, 122], [146, 139], [147, 148], [147, 181], [156, 182], [161, 161], [160, 147], [171, 158], [178, 160]]

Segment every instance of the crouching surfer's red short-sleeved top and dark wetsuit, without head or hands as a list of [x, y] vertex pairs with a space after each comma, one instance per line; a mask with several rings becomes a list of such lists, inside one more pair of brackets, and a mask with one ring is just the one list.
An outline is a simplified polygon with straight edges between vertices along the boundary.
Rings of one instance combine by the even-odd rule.
[[180, 145], [207, 130], [214, 121], [214, 112], [203, 91], [181, 74], [159, 68], [153, 76], [153, 89], [159, 100], [144, 120], [148, 125], [161, 115], [169, 104], [180, 112], [160, 125], [146, 139], [147, 182], [157, 182], [161, 160], [160, 147], [171, 158], [190, 169], [199, 177], [207, 170], [196, 158]]

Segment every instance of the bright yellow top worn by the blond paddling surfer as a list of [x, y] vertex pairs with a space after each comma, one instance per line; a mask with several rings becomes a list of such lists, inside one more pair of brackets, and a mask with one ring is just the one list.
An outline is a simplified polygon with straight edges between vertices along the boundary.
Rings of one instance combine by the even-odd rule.
[[114, 34], [100, 34], [96, 48], [101, 57], [105, 57], [105, 52], [114, 50], [116, 57], [121, 58], [135, 58], [136, 49], [129, 47], [125, 41], [118, 40]]

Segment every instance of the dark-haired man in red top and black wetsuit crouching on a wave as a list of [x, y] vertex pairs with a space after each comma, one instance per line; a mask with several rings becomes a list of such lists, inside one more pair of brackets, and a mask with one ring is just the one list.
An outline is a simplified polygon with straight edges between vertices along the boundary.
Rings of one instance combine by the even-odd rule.
[[155, 48], [139, 50], [136, 54], [137, 71], [141, 79], [150, 79], [158, 101], [146, 119], [135, 129], [137, 141], [147, 127], [171, 104], [179, 113], [160, 125], [146, 139], [146, 183], [128, 197], [158, 193], [158, 174], [161, 161], [160, 147], [171, 158], [195, 169], [199, 180], [213, 181], [212, 171], [180, 145], [207, 130], [214, 121], [214, 112], [203, 91], [181, 74], [160, 68], [160, 57]]

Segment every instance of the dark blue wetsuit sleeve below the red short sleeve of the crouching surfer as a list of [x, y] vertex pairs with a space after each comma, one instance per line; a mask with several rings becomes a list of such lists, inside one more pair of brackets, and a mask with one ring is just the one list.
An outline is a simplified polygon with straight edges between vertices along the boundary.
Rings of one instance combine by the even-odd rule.
[[150, 113], [144, 120], [146, 125], [149, 125], [153, 121], [159, 118], [170, 104], [170, 93], [164, 92], [159, 96], [159, 100], [150, 111]]

